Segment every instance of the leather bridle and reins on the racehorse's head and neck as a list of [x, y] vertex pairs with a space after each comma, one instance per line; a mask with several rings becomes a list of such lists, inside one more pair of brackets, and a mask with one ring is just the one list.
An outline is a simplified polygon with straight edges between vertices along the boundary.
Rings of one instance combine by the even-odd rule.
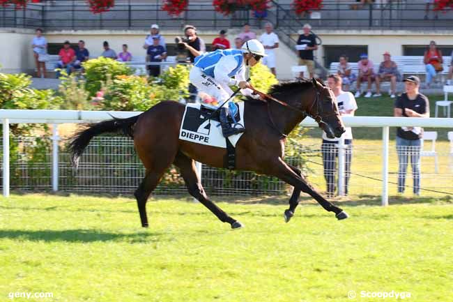
[[[250, 89], [252, 89], [252, 91], [254, 91], [254, 93], [259, 94], [259, 96], [261, 97], [261, 100], [268, 105], [268, 116], [269, 116], [270, 122], [272, 123], [272, 126], [275, 128], [275, 130], [277, 130], [277, 132], [282, 137], [288, 137], [288, 135], [282, 133], [282, 131], [280, 131], [279, 128], [275, 125], [274, 119], [272, 119], [272, 114], [270, 114], [270, 108], [269, 108], [268, 100], [273, 100], [275, 103], [278, 103], [278, 104], [280, 104], [280, 105], [282, 105], [284, 107], [287, 107], [290, 110], [293, 110], [295, 112], [300, 112], [303, 115], [302, 119], [305, 119], [305, 117], [309, 116], [312, 119], [314, 119], [316, 121], [316, 123], [318, 123], [319, 126], [321, 126], [321, 124], [323, 124], [323, 123], [327, 125], [327, 123], [325, 123], [325, 121], [323, 121], [323, 118], [321, 117], [321, 114], [323, 113], [323, 107], [321, 106], [321, 102], [319, 100], [321, 93], [318, 91], [318, 89], [316, 89], [316, 87], [315, 87], [316, 96], [315, 96], [315, 98], [314, 98], [314, 100], [312, 102], [312, 105], [309, 107], [309, 110], [300, 110], [299, 108], [294, 107], [293, 105], [290, 105], [290, 104], [288, 104], [288, 103], [286, 103], [286, 102], [284, 102], [282, 100], [274, 98], [273, 96], [269, 96], [266, 93], [263, 93], [261, 91], [257, 91], [253, 87], [250, 87]], [[316, 106], [316, 112], [315, 112], [315, 114], [311, 114], [310, 112], [312, 112], [312, 109], [313, 109], [314, 106]], [[334, 114], [328, 114], [325, 117], [332, 116], [332, 115], [334, 115]]]

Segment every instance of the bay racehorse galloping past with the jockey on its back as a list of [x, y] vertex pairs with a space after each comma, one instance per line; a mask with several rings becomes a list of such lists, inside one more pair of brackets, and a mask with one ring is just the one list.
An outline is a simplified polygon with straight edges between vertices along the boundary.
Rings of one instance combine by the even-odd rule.
[[[243, 118], [246, 130], [236, 144], [236, 169], [276, 176], [294, 187], [289, 209], [284, 211], [286, 222], [294, 215], [301, 191], [311, 195], [326, 211], [334, 212], [337, 219], [348, 218], [346, 212], [328, 202], [307, 183], [300, 169], [283, 160], [286, 135], [306, 116], [318, 121], [320, 128], [330, 138], [340, 137], [344, 133], [344, 124], [332, 91], [320, 80], [300, 80], [273, 86], [269, 98], [286, 103], [279, 104], [272, 100], [263, 102], [252, 98], [245, 100]], [[134, 194], [142, 227], [148, 227], [146, 201], [172, 163], [180, 169], [190, 195], [204, 204], [220, 221], [228, 222], [231, 228], [243, 227], [241, 222], [231, 218], [208, 199], [195, 168], [195, 160], [212, 167], [224, 167], [227, 150], [179, 139], [184, 111], [184, 105], [169, 100], [137, 116], [91, 124], [72, 137], [69, 145], [72, 164], [77, 167], [79, 157], [96, 135], [123, 132], [133, 137], [135, 150], [146, 168], [146, 176]]]

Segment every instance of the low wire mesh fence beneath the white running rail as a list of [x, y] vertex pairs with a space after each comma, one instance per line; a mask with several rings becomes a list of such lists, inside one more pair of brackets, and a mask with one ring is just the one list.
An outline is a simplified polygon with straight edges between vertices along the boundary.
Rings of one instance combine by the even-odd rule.
[[[354, 131], [354, 130], [353, 130]], [[425, 141], [422, 149], [397, 149], [392, 141], [389, 149], [389, 193], [397, 195], [398, 181], [406, 165], [406, 192], [414, 191], [414, 175], [420, 179], [422, 197], [443, 197], [452, 192], [453, 147], [439, 137], [431, 150]], [[144, 177], [144, 168], [128, 137], [95, 137], [80, 159], [77, 173], [70, 166], [65, 141], [60, 142], [59, 190], [64, 192], [105, 192], [131, 194]], [[10, 187], [15, 190], [52, 190], [52, 138], [20, 137], [14, 139], [16, 148], [10, 158]], [[330, 196], [378, 197], [382, 192], [383, 147], [380, 140], [356, 140], [348, 144], [321, 144], [321, 139], [309, 138], [304, 146], [288, 150], [286, 160], [305, 171], [307, 179], [321, 192]], [[13, 152], [11, 153], [13, 154]], [[295, 154], [297, 156], [291, 156]], [[420, 174], [413, 174], [411, 158]], [[230, 172], [203, 165], [201, 179], [208, 195], [277, 195], [290, 192], [291, 187], [269, 176], [253, 172]], [[436, 192], [439, 191], [439, 192]], [[183, 180], [175, 167], [169, 168], [155, 194], [185, 193]]]

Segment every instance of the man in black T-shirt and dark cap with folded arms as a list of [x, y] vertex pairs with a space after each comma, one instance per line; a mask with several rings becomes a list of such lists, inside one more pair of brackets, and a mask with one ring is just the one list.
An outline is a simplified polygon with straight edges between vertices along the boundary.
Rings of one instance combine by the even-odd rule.
[[[411, 75], [404, 79], [405, 93], [397, 98], [394, 116], [429, 117], [429, 100], [419, 93], [420, 79]], [[408, 158], [412, 166], [413, 192], [420, 195], [420, 146], [423, 129], [420, 127], [397, 128], [398, 192], [404, 192]]]

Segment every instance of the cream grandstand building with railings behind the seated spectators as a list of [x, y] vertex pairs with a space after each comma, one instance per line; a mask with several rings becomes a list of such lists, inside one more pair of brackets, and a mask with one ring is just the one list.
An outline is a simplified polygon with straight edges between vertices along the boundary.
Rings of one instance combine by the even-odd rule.
[[[281, 40], [277, 50], [277, 77], [285, 80], [293, 77], [291, 66], [297, 64], [295, 40], [306, 22], [322, 39], [315, 52], [316, 73], [325, 76], [330, 64], [339, 54], [347, 54], [351, 62], [358, 61], [360, 53], [368, 53], [374, 63], [379, 63], [382, 53], [393, 56], [422, 56], [429, 40], [436, 40], [445, 56], [453, 50], [452, 13], [425, 10], [424, 0], [385, 1], [373, 5], [355, 6], [356, 1], [323, 1], [323, 8], [303, 17], [291, 10], [291, 1], [272, 1], [266, 17], [256, 18], [249, 10], [240, 10], [224, 16], [215, 12], [210, 1], [190, 1], [188, 9], [179, 17], [171, 17], [160, 8], [160, 1], [116, 1], [112, 10], [93, 15], [84, 1], [44, 1], [27, 6], [26, 10], [0, 8], [0, 38], [2, 53], [19, 53], [13, 58], [0, 58], [3, 71], [17, 73], [33, 71], [33, 58], [29, 40], [36, 27], [45, 29], [49, 40], [49, 52], [56, 54], [63, 40], [86, 40], [86, 47], [93, 56], [102, 51], [102, 41], [109, 40], [113, 49], [121, 49], [128, 43], [132, 54], [143, 56], [141, 45], [152, 23], [160, 24], [162, 35], [168, 42], [181, 35], [184, 24], [194, 24], [206, 43], [217, 36], [220, 29], [229, 29], [230, 40], [240, 27], [249, 22], [261, 33], [264, 22], [271, 22]], [[426, 19], [424, 18], [427, 15]], [[171, 49], [171, 44], [170, 44]], [[422, 62], [418, 62], [419, 65]], [[423, 75], [420, 70], [420, 75]]]

